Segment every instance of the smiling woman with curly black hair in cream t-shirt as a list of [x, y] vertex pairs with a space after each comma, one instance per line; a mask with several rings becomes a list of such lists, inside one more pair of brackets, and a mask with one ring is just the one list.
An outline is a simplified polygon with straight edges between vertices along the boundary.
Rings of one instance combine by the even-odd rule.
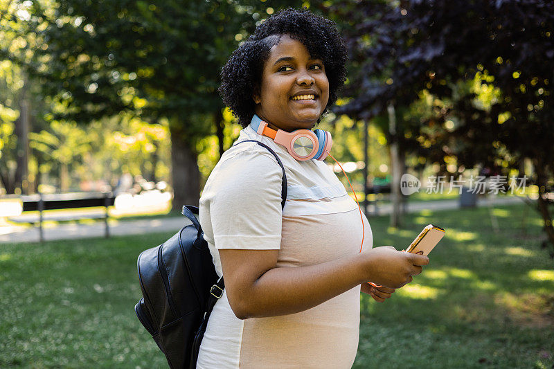
[[[312, 129], [337, 100], [346, 45], [332, 21], [287, 9], [256, 28], [222, 69], [223, 100], [244, 127], [211, 173], [200, 223], [225, 292], [198, 368], [350, 368], [359, 336], [360, 289], [382, 301], [429, 260], [373, 238], [341, 182], [320, 160], [296, 160], [260, 125]], [[325, 156], [325, 155], [323, 155]], [[388, 287], [372, 287], [366, 281]]]

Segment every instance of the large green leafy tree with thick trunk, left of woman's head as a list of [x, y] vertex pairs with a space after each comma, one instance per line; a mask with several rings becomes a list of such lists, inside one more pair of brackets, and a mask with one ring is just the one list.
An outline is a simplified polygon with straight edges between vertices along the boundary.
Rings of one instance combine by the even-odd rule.
[[33, 1], [26, 21], [43, 44], [20, 62], [58, 103], [53, 118], [89, 123], [128, 112], [165, 119], [175, 206], [194, 204], [196, 145], [214, 128], [223, 141], [221, 66], [273, 11], [253, 0]]

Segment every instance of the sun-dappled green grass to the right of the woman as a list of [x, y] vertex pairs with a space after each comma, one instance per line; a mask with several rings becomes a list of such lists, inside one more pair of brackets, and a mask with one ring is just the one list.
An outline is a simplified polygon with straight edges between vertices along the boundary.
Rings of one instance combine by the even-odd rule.
[[362, 298], [355, 368], [551, 368], [554, 261], [539, 248], [539, 217], [524, 206], [422, 212], [402, 230], [370, 219], [375, 246], [403, 249], [422, 226], [447, 230], [420, 276], [393, 298]]

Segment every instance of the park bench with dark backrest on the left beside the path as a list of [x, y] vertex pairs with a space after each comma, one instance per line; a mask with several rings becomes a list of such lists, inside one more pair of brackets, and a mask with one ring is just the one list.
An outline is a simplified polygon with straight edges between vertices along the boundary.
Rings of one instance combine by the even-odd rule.
[[[20, 197], [22, 213], [15, 217], [9, 217], [10, 222], [30, 223], [39, 226], [40, 241], [44, 241], [42, 222], [53, 220], [57, 222], [80, 219], [104, 219], [105, 237], [109, 237], [108, 206], [115, 202], [111, 192], [74, 192], [51, 195], [24, 195]], [[104, 207], [102, 211], [71, 212], [71, 213], [45, 213], [45, 210], [77, 209]], [[38, 214], [25, 214], [30, 211], [38, 211]]]

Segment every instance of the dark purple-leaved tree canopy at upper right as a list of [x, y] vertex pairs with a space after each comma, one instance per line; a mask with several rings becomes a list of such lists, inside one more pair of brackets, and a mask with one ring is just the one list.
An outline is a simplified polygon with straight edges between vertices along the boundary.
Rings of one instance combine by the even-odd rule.
[[357, 73], [346, 91], [352, 100], [337, 110], [371, 118], [391, 102], [407, 107], [425, 94], [437, 99], [434, 114], [404, 122], [406, 142], [437, 161], [454, 155], [465, 168], [505, 174], [531, 159], [554, 245], [546, 195], [554, 176], [554, 3], [349, 3], [334, 10], [355, 24], [348, 43]]

